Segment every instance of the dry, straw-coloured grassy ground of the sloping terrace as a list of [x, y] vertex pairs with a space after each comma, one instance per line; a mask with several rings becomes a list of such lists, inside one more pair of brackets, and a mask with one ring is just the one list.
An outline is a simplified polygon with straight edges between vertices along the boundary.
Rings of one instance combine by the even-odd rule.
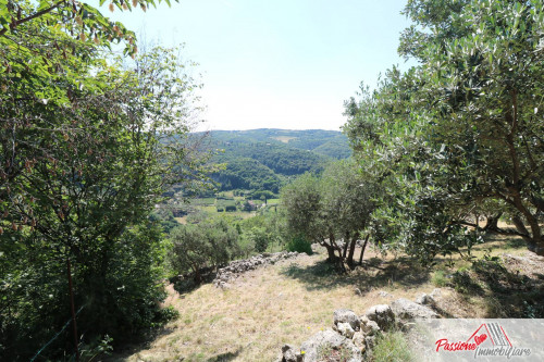
[[[486, 255], [489, 263], [505, 252], [521, 255], [526, 248], [517, 239], [500, 237], [474, 248], [474, 254]], [[272, 361], [283, 344], [300, 345], [330, 327], [333, 311], [339, 308], [362, 314], [371, 305], [391, 302], [393, 298], [413, 299], [438, 285], [443, 291], [438, 308], [446, 316], [483, 317], [497, 313], [514, 316], [519, 311], [509, 307], [519, 301], [512, 301], [512, 296], [520, 298], [535, 288], [541, 294], [544, 290], [539, 284], [531, 290], [519, 288], [519, 278], [515, 277], [510, 286], [494, 288], [493, 283], [487, 283], [490, 271], [491, 274], [504, 271], [481, 267], [480, 272], [487, 273], [487, 277], [482, 277], [478, 269], [458, 257], [452, 261], [438, 259], [436, 269], [426, 270], [404, 255], [390, 254], [383, 259], [372, 250], [367, 255], [367, 266], [348, 275], [336, 274], [324, 263], [326, 255], [321, 251], [248, 272], [227, 290], [207, 284], [178, 294], [169, 286], [165, 304], [178, 310], [180, 319], [168, 324], [148, 346], [118, 355], [116, 360]], [[542, 273], [520, 271], [520, 265], [514, 267], [518, 269], [518, 277], [527, 275], [536, 282]], [[514, 270], [507, 273], [516, 274]], [[458, 274], [470, 283], [456, 277]]]

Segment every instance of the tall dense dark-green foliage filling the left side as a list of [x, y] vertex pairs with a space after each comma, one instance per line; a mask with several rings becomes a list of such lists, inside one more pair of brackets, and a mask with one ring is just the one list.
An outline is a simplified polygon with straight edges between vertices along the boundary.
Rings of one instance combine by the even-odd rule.
[[[9, 1], [0, 24], [0, 359], [77, 357], [154, 323], [164, 251], [148, 215], [200, 179], [184, 141], [198, 85], [173, 51], [136, 58], [85, 3]], [[122, 39], [129, 67], [103, 60]]]

